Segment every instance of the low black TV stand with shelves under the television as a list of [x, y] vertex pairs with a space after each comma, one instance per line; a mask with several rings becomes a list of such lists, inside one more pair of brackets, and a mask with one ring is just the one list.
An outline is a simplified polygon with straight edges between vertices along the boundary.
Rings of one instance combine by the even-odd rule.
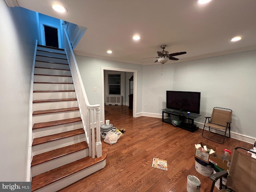
[[162, 122], [172, 124], [172, 120], [180, 122], [178, 127], [194, 132], [198, 129], [194, 124], [194, 119], [200, 117], [199, 114], [190, 113], [188, 115], [185, 112], [179, 112], [172, 109], [162, 109]]

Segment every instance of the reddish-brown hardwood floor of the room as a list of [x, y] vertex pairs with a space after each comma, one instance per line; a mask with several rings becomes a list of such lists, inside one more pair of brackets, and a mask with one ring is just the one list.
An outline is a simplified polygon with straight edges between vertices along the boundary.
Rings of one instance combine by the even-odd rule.
[[[65, 192], [186, 192], [187, 176], [194, 175], [201, 182], [201, 192], [210, 190], [210, 178], [195, 169], [194, 144], [205, 142], [224, 148], [237, 146], [252, 148], [252, 144], [226, 138], [218, 144], [202, 138], [202, 130], [194, 133], [162, 122], [161, 118], [132, 118], [128, 106], [106, 106], [106, 119], [117, 128], [124, 128], [124, 136], [114, 145], [103, 142], [107, 153], [102, 170], [64, 188]], [[167, 160], [168, 171], [152, 167], [153, 157]], [[218, 191], [215, 187], [214, 192]]]

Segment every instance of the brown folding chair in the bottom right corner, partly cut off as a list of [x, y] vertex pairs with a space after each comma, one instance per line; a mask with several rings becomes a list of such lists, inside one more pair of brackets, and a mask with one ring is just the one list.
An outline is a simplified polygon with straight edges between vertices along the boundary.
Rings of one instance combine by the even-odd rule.
[[[242, 153], [240, 150], [246, 150]], [[210, 176], [212, 186], [210, 192], [213, 191], [215, 182], [220, 179], [220, 192], [227, 192], [227, 189], [234, 192], [255, 192], [256, 191], [256, 159], [252, 158], [250, 151], [246, 148], [236, 147], [232, 153], [229, 173], [220, 171]], [[256, 152], [250, 151], [254, 154]], [[226, 184], [222, 184], [222, 177], [227, 176]]]

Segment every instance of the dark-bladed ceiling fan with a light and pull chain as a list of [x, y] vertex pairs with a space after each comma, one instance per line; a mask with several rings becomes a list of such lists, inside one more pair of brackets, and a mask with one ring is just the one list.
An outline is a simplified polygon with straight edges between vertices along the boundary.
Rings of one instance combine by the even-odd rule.
[[[165, 51], [164, 49], [167, 47], [167, 45], [161, 45], [160, 46], [163, 50], [157, 51], [158, 57], [150, 57], [150, 58], [158, 58], [155, 62], [160, 62], [162, 64], [166, 63], [168, 60], [179, 60], [178, 58], [175, 58], [174, 56], [186, 54], [187, 52], [177, 52], [177, 53], [171, 53], [169, 54], [168, 51]], [[149, 58], [144, 58], [149, 59]]]

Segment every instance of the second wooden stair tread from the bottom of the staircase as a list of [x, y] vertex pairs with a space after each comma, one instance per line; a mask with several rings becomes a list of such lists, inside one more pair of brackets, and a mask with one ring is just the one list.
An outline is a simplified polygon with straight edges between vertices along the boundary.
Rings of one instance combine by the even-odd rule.
[[35, 166], [44, 162], [48, 162], [50, 160], [78, 152], [80, 150], [88, 148], [88, 144], [85, 141], [75, 143], [69, 146], [65, 146], [62, 148], [58, 148], [52, 151], [44, 152], [38, 155], [33, 156], [31, 166]]

